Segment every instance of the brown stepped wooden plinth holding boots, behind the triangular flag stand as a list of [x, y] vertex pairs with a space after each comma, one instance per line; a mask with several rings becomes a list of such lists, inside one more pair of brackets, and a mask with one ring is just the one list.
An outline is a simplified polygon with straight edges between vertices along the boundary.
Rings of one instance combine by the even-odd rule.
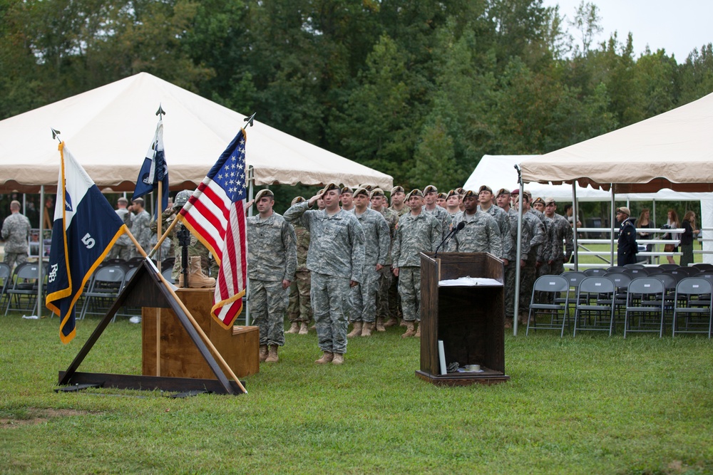
[[[212, 288], [180, 288], [176, 294], [237, 377], [260, 371], [260, 332], [257, 327], [236, 326], [232, 331], [222, 328], [210, 316]], [[141, 310], [142, 374], [156, 376], [157, 312], [161, 326], [160, 376], [217, 379], [170, 308], [143, 307]], [[230, 378], [227, 374], [226, 377]]]

